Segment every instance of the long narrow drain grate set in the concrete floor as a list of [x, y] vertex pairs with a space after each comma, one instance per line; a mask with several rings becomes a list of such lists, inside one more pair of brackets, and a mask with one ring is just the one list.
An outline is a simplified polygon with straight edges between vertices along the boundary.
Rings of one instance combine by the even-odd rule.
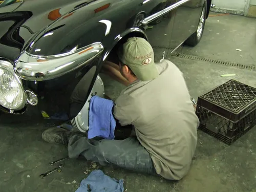
[[194, 55], [184, 55], [184, 54], [179, 54], [179, 53], [176, 56], [180, 57], [180, 58], [217, 63], [217, 64], [225, 65], [225, 66], [232, 66], [232, 67], [237, 67], [237, 68], [256, 70], [255, 66], [247, 66], [247, 65], [243, 65], [243, 64], [235, 63], [235, 62], [222, 61], [222, 60], [217, 60], [217, 59], [209, 59], [209, 58], [198, 57], [198, 56], [194, 56]]

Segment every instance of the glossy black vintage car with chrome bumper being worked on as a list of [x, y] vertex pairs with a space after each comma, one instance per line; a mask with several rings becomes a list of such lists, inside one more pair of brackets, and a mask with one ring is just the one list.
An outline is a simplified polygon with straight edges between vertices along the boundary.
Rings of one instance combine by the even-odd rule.
[[[0, 123], [88, 130], [104, 60], [131, 36], [156, 55], [200, 41], [211, 0], [6, 0], [0, 5]], [[158, 54], [161, 52], [161, 54]], [[161, 57], [155, 57], [156, 62]]]

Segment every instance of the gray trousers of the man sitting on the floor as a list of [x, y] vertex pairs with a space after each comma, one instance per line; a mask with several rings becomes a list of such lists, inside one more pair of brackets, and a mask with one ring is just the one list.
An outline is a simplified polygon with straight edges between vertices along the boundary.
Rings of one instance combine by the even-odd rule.
[[101, 165], [110, 163], [135, 172], [157, 175], [150, 154], [136, 137], [96, 141], [74, 135], [69, 140], [68, 152], [70, 158], [83, 156]]

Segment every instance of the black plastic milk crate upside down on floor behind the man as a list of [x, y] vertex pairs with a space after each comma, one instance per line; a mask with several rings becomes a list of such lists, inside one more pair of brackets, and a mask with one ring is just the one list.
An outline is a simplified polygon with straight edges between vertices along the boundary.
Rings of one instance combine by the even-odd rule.
[[236, 80], [199, 96], [199, 129], [232, 144], [256, 125], [256, 89]]

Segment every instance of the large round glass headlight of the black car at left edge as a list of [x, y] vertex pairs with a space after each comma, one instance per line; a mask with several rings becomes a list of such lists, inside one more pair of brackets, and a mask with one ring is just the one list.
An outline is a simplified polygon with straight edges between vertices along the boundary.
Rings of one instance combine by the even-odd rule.
[[21, 110], [25, 106], [22, 83], [15, 75], [10, 62], [0, 60], [0, 105], [10, 110]]

